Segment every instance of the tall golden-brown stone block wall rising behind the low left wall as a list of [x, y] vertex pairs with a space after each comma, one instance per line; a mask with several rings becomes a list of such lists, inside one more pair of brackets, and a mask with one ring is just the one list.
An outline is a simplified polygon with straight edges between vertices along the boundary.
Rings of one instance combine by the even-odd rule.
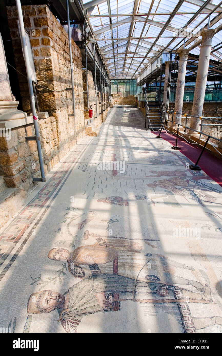
[[[56, 119], [59, 150], [65, 154], [85, 135], [83, 114], [82, 58], [72, 40], [76, 117], [73, 114], [68, 33], [46, 5], [22, 6], [24, 25], [30, 42], [36, 68], [36, 85], [40, 111], [48, 111]], [[14, 48], [16, 68], [26, 74], [21, 42], [17, 27], [15, 6], [7, 7], [8, 22]], [[30, 112], [27, 79], [18, 74], [23, 109]], [[42, 85], [45, 88], [42, 88]], [[48, 89], [46, 89], [48, 88]]]

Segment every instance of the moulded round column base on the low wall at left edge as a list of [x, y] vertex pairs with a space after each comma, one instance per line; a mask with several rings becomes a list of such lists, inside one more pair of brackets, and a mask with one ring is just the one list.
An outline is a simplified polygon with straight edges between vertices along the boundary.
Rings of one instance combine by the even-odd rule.
[[17, 110], [18, 105], [17, 100], [0, 100], [0, 121], [25, 119], [27, 113]]

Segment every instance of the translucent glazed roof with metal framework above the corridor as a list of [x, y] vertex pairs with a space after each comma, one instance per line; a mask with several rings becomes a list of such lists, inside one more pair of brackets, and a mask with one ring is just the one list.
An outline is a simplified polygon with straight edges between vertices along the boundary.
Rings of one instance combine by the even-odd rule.
[[[89, 2], [88, 0], [82, 1], [83, 4]], [[207, 28], [210, 11], [212, 11], [210, 20], [214, 21], [210, 28], [217, 28], [222, 25], [222, 7], [215, 9], [220, 4], [220, 0], [212, 0], [199, 14], [196, 14], [196, 12], [205, 1], [181, 1], [180, 8], [170, 18], [178, 3], [178, 0], [155, 0], [151, 9], [151, 0], [139, 0], [136, 8], [134, 8], [135, 1], [125, 0], [99, 0], [98, 5], [95, 5], [94, 8], [89, 5], [90, 9], [86, 11], [88, 11], [88, 19], [94, 32], [92, 36], [97, 39], [102, 55], [108, 61], [107, 65], [112, 63], [112, 66], [108, 67], [108, 71], [112, 70], [110, 72], [112, 76], [117, 75], [118, 78], [130, 79], [132, 72], [135, 72], [135, 68], [138, 68], [136, 75], [140, 74], [144, 64], [154, 60], [156, 56], [160, 56], [161, 51], [164, 51], [164, 53], [171, 50], [176, 52], [178, 48], [184, 45], [185, 36], [186, 44], [191, 36], [194, 36], [195, 31], [200, 31], [203, 27]], [[109, 17], [109, 4], [111, 17]], [[133, 12], [135, 16], [133, 16]], [[147, 16], [148, 12], [149, 16]], [[178, 36], [178, 30], [183, 27], [186, 29], [184, 34], [180, 33]], [[219, 45], [222, 42], [222, 30], [219, 30], [220, 28], [212, 39], [212, 47], [216, 49], [218, 45], [218, 50], [211, 53], [211, 59], [216, 61], [222, 60], [222, 48]], [[195, 41], [201, 40], [201, 38], [198, 32], [196, 39], [193, 37], [193, 41], [186, 44], [186, 48], [190, 48], [191, 54], [198, 55], [200, 53], [200, 46], [195, 46]], [[113, 48], [116, 74], [113, 65]], [[108, 59], [109, 57], [111, 59]], [[142, 61], [144, 63], [141, 65]], [[128, 71], [130, 66], [133, 67], [133, 71], [129, 71], [126, 77], [123, 68]], [[119, 73], [119, 68], [122, 68], [122, 73]]]

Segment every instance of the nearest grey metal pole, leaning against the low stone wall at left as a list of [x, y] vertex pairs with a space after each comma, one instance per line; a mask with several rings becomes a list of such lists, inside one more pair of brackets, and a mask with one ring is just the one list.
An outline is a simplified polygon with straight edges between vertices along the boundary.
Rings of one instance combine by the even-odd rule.
[[22, 48], [23, 48], [23, 53], [24, 53], [26, 73], [27, 73], [27, 79], [28, 79], [28, 85], [29, 85], [29, 95], [30, 95], [31, 109], [32, 109], [34, 129], [35, 129], [35, 135], [36, 135], [38, 160], [39, 160], [41, 177], [42, 177], [41, 180], [42, 180], [42, 182], [45, 182], [46, 178], [45, 178], [45, 172], [44, 172], [44, 168], [43, 168], [40, 136], [39, 136], [39, 132], [38, 132], [38, 123], [37, 123], [37, 118], [36, 118], [37, 115], [36, 115], [36, 108], [35, 108], [35, 97], [34, 97], [33, 87], [32, 87], [31, 69], [30, 69], [30, 64], [29, 64], [29, 53], [28, 53], [28, 48], [26, 45], [25, 27], [24, 27], [24, 22], [23, 22], [22, 7], [21, 7], [20, 0], [16, 0], [16, 7], [17, 7], [19, 26], [20, 26], [20, 31], [21, 31], [21, 41], [22, 41]]

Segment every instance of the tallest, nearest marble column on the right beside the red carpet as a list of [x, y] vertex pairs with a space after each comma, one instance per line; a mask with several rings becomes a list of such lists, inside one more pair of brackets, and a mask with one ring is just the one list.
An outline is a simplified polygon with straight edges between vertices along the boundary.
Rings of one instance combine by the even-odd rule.
[[[197, 68], [197, 78], [193, 98], [192, 115], [190, 127], [194, 130], [200, 130], [200, 116], [203, 112], [203, 102], [205, 97], [207, 73], [210, 62], [212, 37], [215, 34], [214, 29], [204, 29], [201, 32], [202, 43], [200, 47], [200, 57]], [[189, 130], [188, 135], [197, 135], [197, 132]]]

